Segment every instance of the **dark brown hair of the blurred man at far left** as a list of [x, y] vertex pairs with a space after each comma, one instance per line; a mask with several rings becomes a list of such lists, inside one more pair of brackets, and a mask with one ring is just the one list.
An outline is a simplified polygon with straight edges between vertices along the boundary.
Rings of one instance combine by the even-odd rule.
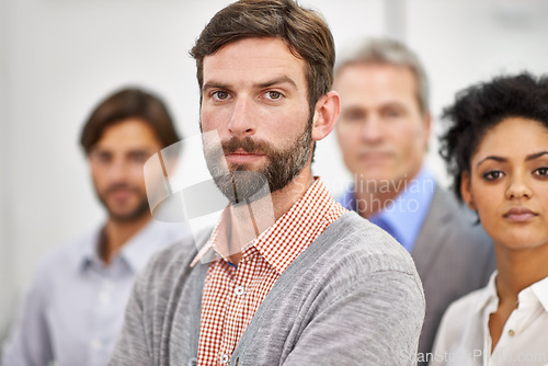
[[128, 118], [147, 123], [162, 148], [181, 140], [167, 105], [158, 95], [138, 88], [126, 88], [106, 96], [91, 112], [80, 136], [85, 155], [101, 139], [106, 127]]

